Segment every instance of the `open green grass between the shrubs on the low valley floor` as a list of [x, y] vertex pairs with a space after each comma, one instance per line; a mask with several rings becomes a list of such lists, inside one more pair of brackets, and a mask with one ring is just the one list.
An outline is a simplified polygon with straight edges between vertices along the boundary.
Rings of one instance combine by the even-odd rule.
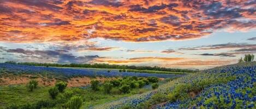
[[[50, 87], [40, 86], [34, 89], [33, 92], [29, 92], [25, 85], [11, 85], [11, 86], [0, 86], [0, 108], [6, 108], [9, 105], [25, 105], [35, 104], [39, 100], [51, 100], [48, 93]], [[91, 88], [67, 88], [66, 91], [73, 91], [74, 95], [82, 97], [84, 103], [82, 108], [88, 108], [90, 106], [104, 104], [106, 102], [117, 100], [123, 97], [129, 97], [133, 94], [144, 93], [150, 89], [146, 88], [135, 88], [130, 93], [127, 94], [105, 94], [100, 87], [100, 91], [92, 91]], [[60, 93], [56, 100], [61, 99]], [[64, 105], [64, 104], [58, 104]]]

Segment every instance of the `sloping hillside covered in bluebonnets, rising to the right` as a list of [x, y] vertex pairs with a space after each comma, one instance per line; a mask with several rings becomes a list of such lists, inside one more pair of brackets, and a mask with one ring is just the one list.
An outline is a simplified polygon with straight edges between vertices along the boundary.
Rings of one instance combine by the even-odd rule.
[[255, 108], [256, 62], [204, 70], [94, 108]]

